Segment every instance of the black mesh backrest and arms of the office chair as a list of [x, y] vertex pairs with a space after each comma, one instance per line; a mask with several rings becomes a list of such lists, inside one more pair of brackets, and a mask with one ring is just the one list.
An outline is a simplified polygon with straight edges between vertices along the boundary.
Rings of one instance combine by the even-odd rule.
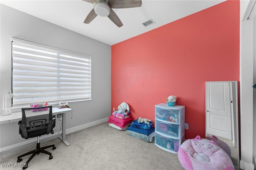
[[52, 106], [22, 108], [22, 120], [19, 121], [20, 134], [23, 138], [31, 138], [49, 134], [55, 126]]

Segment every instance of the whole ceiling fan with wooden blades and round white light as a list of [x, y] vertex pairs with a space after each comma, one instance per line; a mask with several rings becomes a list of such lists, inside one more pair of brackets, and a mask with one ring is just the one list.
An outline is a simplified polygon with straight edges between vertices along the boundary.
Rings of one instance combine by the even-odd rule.
[[112, 8], [134, 8], [140, 7], [141, 0], [83, 0], [94, 4], [94, 8], [85, 18], [84, 23], [89, 24], [97, 15], [108, 16], [118, 27], [123, 26], [121, 20], [118, 18]]

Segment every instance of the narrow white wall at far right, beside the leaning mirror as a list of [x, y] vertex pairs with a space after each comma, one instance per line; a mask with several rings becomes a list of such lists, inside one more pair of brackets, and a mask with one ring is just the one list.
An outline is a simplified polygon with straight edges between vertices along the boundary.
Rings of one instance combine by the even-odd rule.
[[[252, 1], [251, 1], [252, 2]], [[255, 16], [250, 20], [244, 20], [248, 5], [251, 2], [240, 1], [240, 139], [241, 160], [240, 168], [253, 170], [253, 156], [255, 155], [255, 83], [256, 76], [256, 36]], [[247, 17], [247, 16], [246, 16]]]

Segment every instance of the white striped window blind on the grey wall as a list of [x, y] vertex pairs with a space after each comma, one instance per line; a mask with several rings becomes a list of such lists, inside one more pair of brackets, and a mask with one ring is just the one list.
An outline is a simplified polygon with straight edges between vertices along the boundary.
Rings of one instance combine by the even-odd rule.
[[13, 38], [12, 107], [91, 99], [91, 56]]

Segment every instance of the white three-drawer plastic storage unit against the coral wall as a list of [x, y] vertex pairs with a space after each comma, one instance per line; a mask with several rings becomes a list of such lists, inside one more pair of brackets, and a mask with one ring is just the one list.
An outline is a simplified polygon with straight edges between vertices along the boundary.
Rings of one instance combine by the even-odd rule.
[[155, 105], [155, 144], [173, 153], [185, 140], [185, 106]]

